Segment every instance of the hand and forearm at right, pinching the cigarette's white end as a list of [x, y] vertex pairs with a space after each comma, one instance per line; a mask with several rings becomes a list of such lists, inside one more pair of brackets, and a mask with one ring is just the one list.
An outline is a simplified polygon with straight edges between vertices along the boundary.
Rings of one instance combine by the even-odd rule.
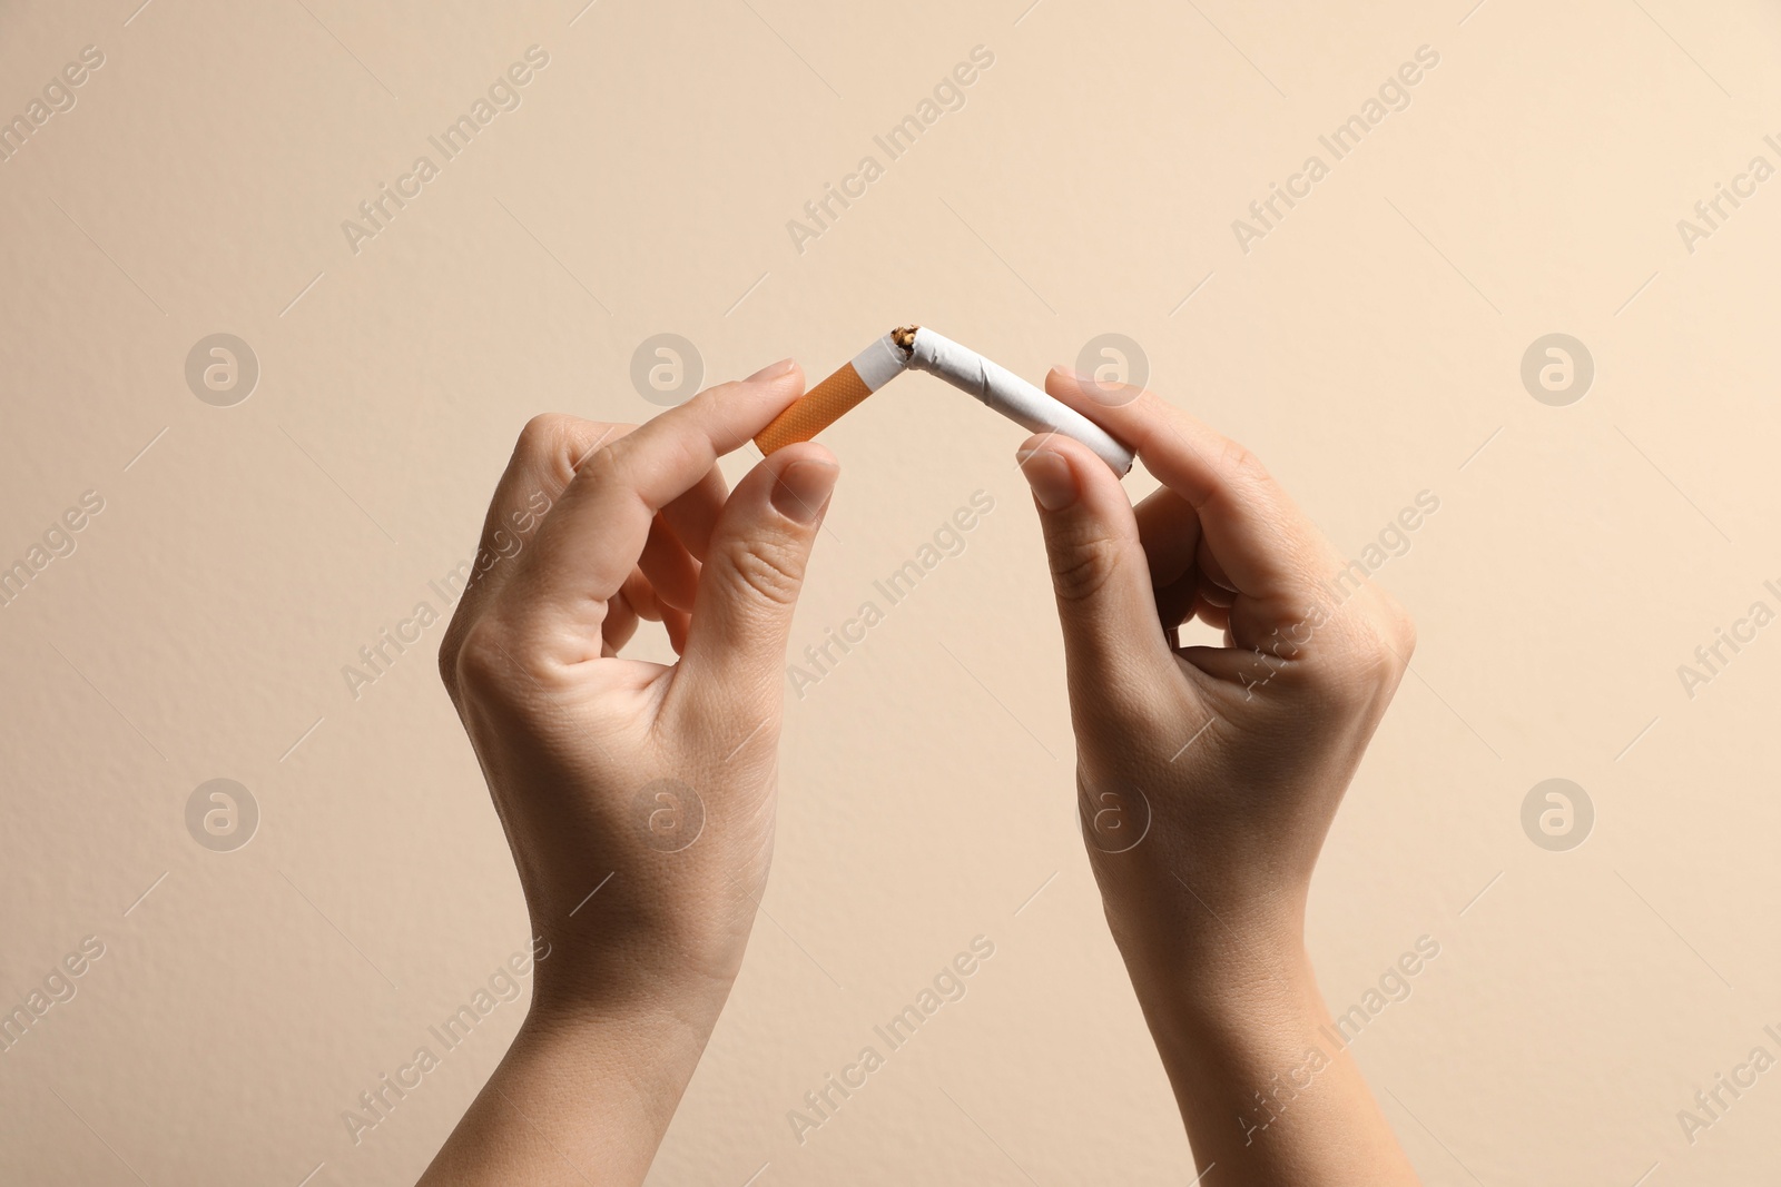
[[[1323, 582], [1341, 557], [1241, 445], [1149, 392], [1065, 370], [1045, 388], [1161, 482], [1133, 507], [1078, 441], [1021, 447], [1063, 625], [1083, 817], [1113, 803], [1149, 826], [1131, 847], [1090, 826], [1088, 856], [1199, 1171], [1416, 1183], [1352, 1055], [1320, 1032], [1329, 1013], [1304, 945], [1313, 867], [1414, 626], [1371, 584], [1334, 605]], [[1170, 628], [1190, 618], [1222, 646], [1175, 648]]]

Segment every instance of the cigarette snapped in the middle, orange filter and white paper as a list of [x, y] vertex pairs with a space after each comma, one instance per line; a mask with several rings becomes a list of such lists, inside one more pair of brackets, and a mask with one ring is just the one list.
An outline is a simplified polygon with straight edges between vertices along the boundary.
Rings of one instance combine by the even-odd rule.
[[921, 326], [898, 326], [855, 354], [846, 367], [775, 416], [773, 424], [755, 436], [755, 445], [762, 454], [771, 454], [793, 441], [809, 441], [910, 368], [939, 375], [1031, 432], [1061, 432], [1076, 438], [1117, 475], [1124, 477], [1131, 470], [1131, 450], [1088, 416], [976, 351]]

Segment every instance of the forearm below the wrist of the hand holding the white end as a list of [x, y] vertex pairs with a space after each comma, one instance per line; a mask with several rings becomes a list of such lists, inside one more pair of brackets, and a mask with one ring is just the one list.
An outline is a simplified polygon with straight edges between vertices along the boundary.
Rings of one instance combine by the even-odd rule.
[[1204, 1175], [1227, 1187], [1393, 1187], [1416, 1173], [1339, 1045], [1298, 941], [1252, 943], [1191, 973], [1133, 970]]

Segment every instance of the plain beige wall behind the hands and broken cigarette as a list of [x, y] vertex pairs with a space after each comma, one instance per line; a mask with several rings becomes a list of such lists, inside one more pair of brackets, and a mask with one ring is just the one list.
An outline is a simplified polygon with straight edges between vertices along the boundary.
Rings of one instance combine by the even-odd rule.
[[[0, 610], [4, 1004], [105, 943], [0, 1054], [0, 1180], [411, 1180], [520, 1005], [356, 1146], [340, 1114], [525, 918], [440, 628], [356, 701], [340, 667], [468, 555], [531, 413], [655, 411], [650, 335], [711, 379], [821, 375], [901, 320], [1028, 375], [1129, 335], [1346, 555], [1439, 497], [1378, 573], [1421, 650], [1311, 918], [1338, 1011], [1441, 943], [1355, 1045], [1428, 1183], [1774, 1166], [1781, 1073], [1694, 1144], [1676, 1116], [1781, 1055], [1781, 632], [1692, 699], [1676, 673], [1781, 607], [1781, 180], [1692, 254], [1676, 230], [1781, 166], [1774, 5], [135, 2], [0, 7], [5, 116], [105, 55], [0, 164], [0, 562], [105, 498]], [[342, 219], [531, 44], [522, 107], [353, 254]], [[965, 107], [800, 254], [787, 221], [976, 44]], [[1421, 44], [1412, 105], [1245, 254], [1232, 219]], [[233, 408], [183, 379], [219, 331], [262, 367]], [[1567, 408], [1519, 381], [1553, 331], [1596, 359]], [[825, 438], [798, 650], [972, 491], [996, 509], [789, 699], [766, 913], [652, 1182], [1193, 1178], [1083, 858], [1021, 438], [928, 379]], [[1519, 820], [1551, 776], [1596, 808], [1569, 852]], [[235, 852], [185, 829], [212, 778], [260, 806]], [[969, 995], [796, 1143], [978, 934]]]

